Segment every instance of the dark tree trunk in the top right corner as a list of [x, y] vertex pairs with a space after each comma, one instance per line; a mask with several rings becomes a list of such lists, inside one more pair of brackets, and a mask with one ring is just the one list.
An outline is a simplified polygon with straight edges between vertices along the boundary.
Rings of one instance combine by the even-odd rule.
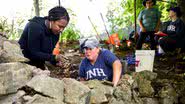
[[185, 0], [177, 0], [177, 5], [181, 8], [182, 20], [185, 23]]

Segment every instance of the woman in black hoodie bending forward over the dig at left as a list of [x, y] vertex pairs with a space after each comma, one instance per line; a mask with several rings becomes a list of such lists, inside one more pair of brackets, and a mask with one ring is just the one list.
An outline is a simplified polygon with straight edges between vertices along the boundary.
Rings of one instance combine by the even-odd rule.
[[62, 6], [49, 10], [47, 17], [29, 20], [18, 42], [24, 56], [30, 59], [29, 64], [45, 69], [45, 61], [55, 65], [62, 61], [62, 55], [53, 55], [52, 51], [69, 20], [68, 12]]

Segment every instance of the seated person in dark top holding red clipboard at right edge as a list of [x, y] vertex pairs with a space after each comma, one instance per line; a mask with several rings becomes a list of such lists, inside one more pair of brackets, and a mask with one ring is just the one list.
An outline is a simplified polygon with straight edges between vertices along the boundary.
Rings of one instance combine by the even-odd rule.
[[167, 34], [167, 36], [159, 39], [159, 54], [185, 47], [185, 24], [180, 19], [181, 16], [182, 13], [179, 7], [169, 9], [171, 21], [168, 22], [167, 27], [162, 32], [156, 33], [156, 35]]

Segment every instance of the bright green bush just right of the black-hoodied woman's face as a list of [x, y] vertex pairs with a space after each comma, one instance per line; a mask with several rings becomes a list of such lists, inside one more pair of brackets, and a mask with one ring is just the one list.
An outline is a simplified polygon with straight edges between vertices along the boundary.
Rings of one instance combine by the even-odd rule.
[[80, 31], [75, 28], [74, 24], [70, 24], [64, 32], [60, 35], [60, 41], [62, 40], [77, 40], [80, 38]]

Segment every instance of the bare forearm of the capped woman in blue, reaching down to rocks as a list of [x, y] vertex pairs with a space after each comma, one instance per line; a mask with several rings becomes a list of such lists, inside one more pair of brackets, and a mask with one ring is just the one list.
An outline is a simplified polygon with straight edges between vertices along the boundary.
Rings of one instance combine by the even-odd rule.
[[113, 63], [113, 80], [112, 83], [114, 86], [117, 85], [120, 77], [121, 77], [121, 72], [122, 72], [122, 65], [121, 62], [119, 60], [116, 60]]

